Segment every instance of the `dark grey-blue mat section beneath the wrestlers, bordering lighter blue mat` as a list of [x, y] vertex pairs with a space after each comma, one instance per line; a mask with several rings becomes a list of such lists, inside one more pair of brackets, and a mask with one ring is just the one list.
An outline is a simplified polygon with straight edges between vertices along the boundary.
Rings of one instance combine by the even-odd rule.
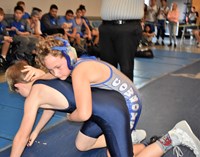
[[[140, 89], [143, 111], [138, 129], [147, 131], [147, 141], [153, 135], [162, 136], [177, 122], [186, 120], [200, 138], [200, 61], [156, 79]], [[120, 125], [120, 124], [119, 124]], [[40, 134], [27, 148], [23, 157], [105, 157], [105, 149], [79, 152], [74, 146], [81, 123], [63, 121]], [[3, 128], [3, 126], [1, 126]], [[180, 147], [183, 157], [193, 157], [192, 151]], [[0, 152], [8, 157], [10, 148]], [[164, 157], [173, 157], [170, 150]]]

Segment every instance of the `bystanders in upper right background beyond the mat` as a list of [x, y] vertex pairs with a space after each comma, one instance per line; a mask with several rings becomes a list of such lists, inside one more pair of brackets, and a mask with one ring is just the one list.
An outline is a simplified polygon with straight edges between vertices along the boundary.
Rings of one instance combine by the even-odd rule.
[[[142, 45], [151, 46], [155, 45], [165, 45], [165, 33], [168, 25], [169, 30], [169, 44], [168, 46], [177, 46], [177, 27], [179, 24], [180, 11], [178, 9], [178, 4], [172, 2], [167, 3], [167, 0], [160, 0], [160, 5], [158, 5], [156, 0], [150, 0], [149, 6], [145, 4], [144, 6], [144, 18], [143, 23], [143, 38], [141, 41]], [[186, 14], [185, 24], [194, 25], [192, 27], [193, 34], [195, 35], [197, 41], [197, 47], [200, 47], [199, 40], [199, 30], [196, 26], [198, 23], [198, 12], [195, 10], [194, 6], [191, 6], [190, 11]], [[156, 42], [153, 43], [152, 39], [156, 38]], [[160, 41], [161, 38], [161, 41]]]

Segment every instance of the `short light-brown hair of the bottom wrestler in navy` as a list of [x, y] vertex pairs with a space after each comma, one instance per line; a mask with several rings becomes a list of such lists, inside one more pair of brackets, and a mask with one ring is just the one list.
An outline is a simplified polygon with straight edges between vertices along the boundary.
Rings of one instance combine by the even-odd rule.
[[21, 70], [24, 69], [24, 66], [28, 65], [26, 61], [17, 61], [15, 64], [11, 65], [5, 73], [5, 78], [8, 83], [9, 89], [12, 92], [16, 92], [16, 83], [24, 82], [28, 83], [24, 80], [26, 76], [26, 72], [22, 73]]

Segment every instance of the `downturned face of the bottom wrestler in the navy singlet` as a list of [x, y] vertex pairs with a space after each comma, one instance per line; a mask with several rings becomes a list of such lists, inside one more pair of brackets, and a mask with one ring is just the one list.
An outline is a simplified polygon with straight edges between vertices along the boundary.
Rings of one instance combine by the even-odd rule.
[[31, 91], [31, 88], [28, 86], [28, 83], [16, 83], [15, 92], [19, 93], [23, 97], [27, 97]]

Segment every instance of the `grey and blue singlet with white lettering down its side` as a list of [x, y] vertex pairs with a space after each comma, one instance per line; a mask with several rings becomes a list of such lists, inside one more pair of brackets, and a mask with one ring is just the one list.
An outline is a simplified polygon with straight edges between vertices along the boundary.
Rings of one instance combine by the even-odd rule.
[[109, 67], [110, 77], [102, 83], [91, 84], [91, 87], [97, 87], [107, 90], [115, 90], [121, 93], [126, 100], [126, 104], [129, 110], [131, 131], [135, 130], [135, 127], [138, 123], [141, 114], [142, 103], [139, 97], [139, 93], [135, 88], [135, 86], [133, 85], [133, 82], [112, 65], [97, 60], [94, 57], [82, 58], [78, 60], [74, 68], [82, 62], [89, 62], [89, 61], [97, 61]]

